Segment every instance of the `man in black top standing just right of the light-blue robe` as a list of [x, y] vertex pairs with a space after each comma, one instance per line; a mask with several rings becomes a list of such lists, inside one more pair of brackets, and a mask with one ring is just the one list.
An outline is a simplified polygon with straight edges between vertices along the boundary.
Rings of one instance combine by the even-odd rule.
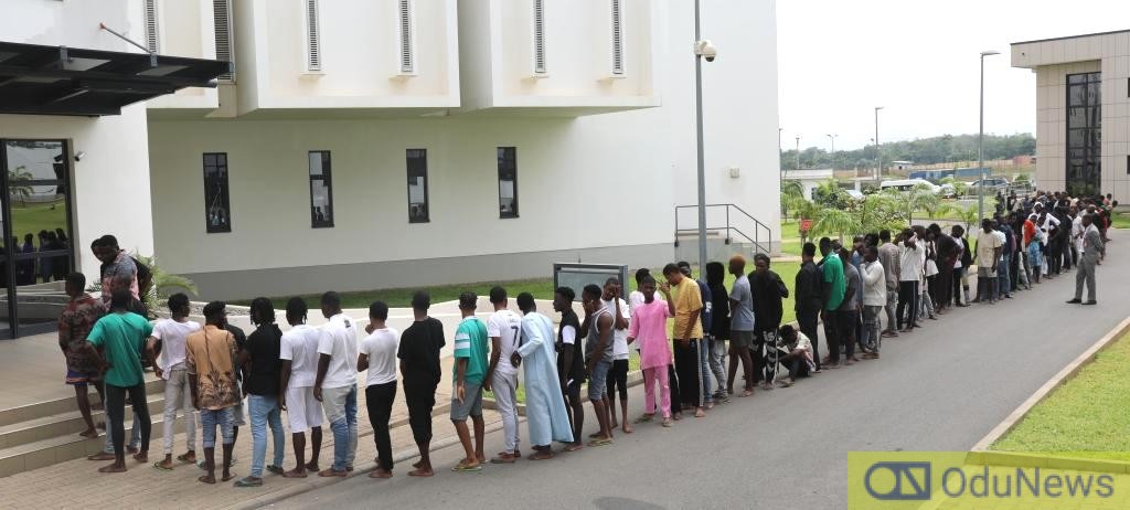
[[554, 292], [554, 311], [562, 314], [560, 327], [557, 329], [557, 374], [560, 377], [562, 392], [565, 394], [565, 409], [568, 410], [573, 424], [573, 443], [566, 451], [576, 451], [581, 442], [581, 430], [584, 429], [584, 400], [581, 399], [581, 384], [588, 378], [584, 366], [584, 354], [581, 353], [581, 320], [573, 311], [573, 300], [576, 294], [570, 287], [559, 287]]

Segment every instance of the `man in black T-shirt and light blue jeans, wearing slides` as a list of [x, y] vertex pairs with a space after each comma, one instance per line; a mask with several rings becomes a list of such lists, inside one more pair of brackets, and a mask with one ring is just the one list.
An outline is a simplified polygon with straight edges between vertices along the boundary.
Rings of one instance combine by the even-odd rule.
[[237, 487], [258, 487], [263, 485], [263, 461], [267, 457], [267, 426], [271, 427], [271, 442], [275, 447], [275, 458], [267, 470], [282, 474], [282, 452], [285, 435], [282, 432], [281, 409], [279, 409], [279, 340], [282, 331], [275, 323], [275, 306], [267, 297], [257, 297], [251, 302], [251, 322], [255, 330], [240, 347], [238, 365], [243, 371], [243, 392], [247, 396], [247, 408], [251, 412], [251, 474], [235, 483]]

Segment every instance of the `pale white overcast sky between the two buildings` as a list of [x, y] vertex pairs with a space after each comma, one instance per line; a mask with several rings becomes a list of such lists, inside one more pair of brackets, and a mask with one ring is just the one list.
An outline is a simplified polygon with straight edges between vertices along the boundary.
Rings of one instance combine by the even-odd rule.
[[[754, 0], [750, 0], [754, 1]], [[836, 149], [977, 132], [985, 50], [985, 132], [1035, 133], [1035, 75], [1009, 44], [1130, 29], [1130, 0], [777, 0], [784, 149]]]

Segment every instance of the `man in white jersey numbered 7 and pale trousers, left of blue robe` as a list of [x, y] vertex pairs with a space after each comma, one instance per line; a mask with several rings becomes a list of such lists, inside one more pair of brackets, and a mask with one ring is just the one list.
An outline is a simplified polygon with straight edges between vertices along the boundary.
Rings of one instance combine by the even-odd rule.
[[484, 381], [484, 389], [493, 391], [502, 415], [505, 433], [503, 451], [490, 459], [492, 464], [513, 464], [522, 457], [518, 449], [518, 368], [511, 356], [518, 348], [522, 329], [522, 318], [508, 309], [506, 289], [490, 289], [490, 304], [495, 311], [487, 320], [487, 336], [490, 337], [490, 365]]

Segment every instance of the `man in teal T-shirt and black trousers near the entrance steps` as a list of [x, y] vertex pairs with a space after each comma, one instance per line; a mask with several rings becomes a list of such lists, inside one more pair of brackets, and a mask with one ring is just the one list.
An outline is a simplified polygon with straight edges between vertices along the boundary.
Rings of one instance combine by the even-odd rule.
[[[125, 395], [133, 401], [136, 420], [141, 421], [141, 449], [133, 458], [139, 463], [149, 460], [149, 408], [146, 405], [145, 372], [141, 369], [141, 349], [153, 334], [153, 326], [144, 317], [130, 312], [133, 295], [129, 288], [115, 289], [110, 300], [110, 313], [95, 322], [87, 335], [87, 349], [105, 370], [106, 415], [114, 443], [114, 464], [98, 469], [101, 473], [124, 473], [125, 453], [123, 427]], [[105, 351], [105, 358], [95, 347]]]

